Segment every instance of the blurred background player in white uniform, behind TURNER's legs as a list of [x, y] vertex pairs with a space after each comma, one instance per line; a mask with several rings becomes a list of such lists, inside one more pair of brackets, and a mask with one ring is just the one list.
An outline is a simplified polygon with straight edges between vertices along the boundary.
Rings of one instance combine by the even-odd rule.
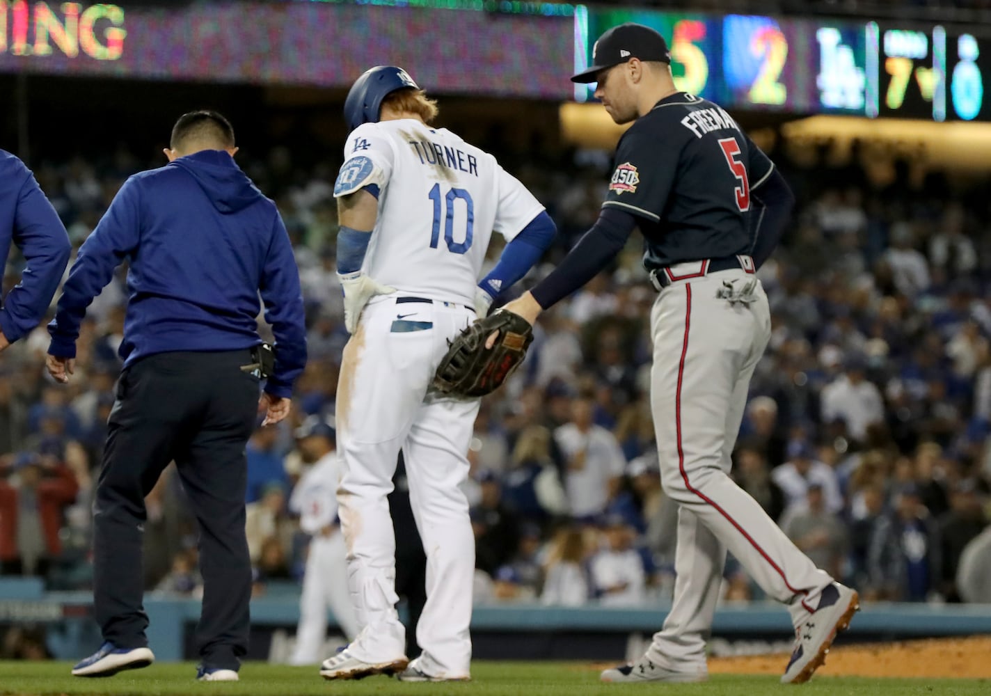
[[299, 527], [310, 535], [303, 591], [299, 597], [299, 625], [291, 664], [316, 664], [327, 638], [327, 610], [349, 640], [358, 635], [358, 618], [348, 592], [344, 535], [337, 521], [337, 487], [341, 460], [334, 451], [332, 425], [311, 415], [296, 432], [303, 459], [312, 462], [289, 498], [289, 510], [299, 516]]

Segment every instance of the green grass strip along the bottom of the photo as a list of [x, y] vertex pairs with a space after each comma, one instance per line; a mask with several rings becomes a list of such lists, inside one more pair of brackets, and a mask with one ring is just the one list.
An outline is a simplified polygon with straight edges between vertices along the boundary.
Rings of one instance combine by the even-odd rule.
[[580, 662], [486, 662], [472, 665], [474, 681], [450, 684], [408, 684], [383, 676], [362, 681], [324, 681], [316, 667], [287, 667], [249, 662], [241, 669], [241, 681], [197, 683], [194, 663], [161, 663], [146, 669], [122, 672], [109, 679], [80, 679], [69, 675], [67, 662], [0, 662], [0, 694], [17, 696], [624, 696], [625, 694], [686, 694], [687, 696], [986, 696], [987, 679], [863, 679], [826, 674], [802, 686], [784, 686], [777, 677], [714, 675], [703, 684], [602, 684], [599, 673]]

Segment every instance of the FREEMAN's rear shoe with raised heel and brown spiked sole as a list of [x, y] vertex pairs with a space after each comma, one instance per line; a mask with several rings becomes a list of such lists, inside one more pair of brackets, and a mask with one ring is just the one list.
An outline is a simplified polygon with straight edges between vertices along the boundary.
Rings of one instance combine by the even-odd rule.
[[809, 681], [826, 662], [826, 653], [836, 634], [850, 625], [860, 609], [856, 590], [834, 582], [820, 595], [819, 607], [795, 627], [795, 648], [781, 677], [782, 684], [802, 684]]

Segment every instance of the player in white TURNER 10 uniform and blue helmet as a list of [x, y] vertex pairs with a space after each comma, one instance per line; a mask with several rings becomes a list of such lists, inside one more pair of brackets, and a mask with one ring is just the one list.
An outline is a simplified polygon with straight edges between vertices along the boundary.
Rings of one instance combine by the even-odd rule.
[[[338, 501], [361, 631], [320, 674], [468, 679], [475, 541], [460, 485], [479, 401], [442, 399], [430, 385], [448, 340], [525, 275], [555, 228], [492, 155], [429, 125], [436, 105], [401, 68], [367, 71], [344, 110], [353, 131], [334, 195], [352, 335], [337, 392]], [[508, 243], [480, 283], [494, 232]], [[427, 554], [427, 601], [416, 632], [422, 654], [412, 662], [395, 611], [385, 499], [400, 448]]]

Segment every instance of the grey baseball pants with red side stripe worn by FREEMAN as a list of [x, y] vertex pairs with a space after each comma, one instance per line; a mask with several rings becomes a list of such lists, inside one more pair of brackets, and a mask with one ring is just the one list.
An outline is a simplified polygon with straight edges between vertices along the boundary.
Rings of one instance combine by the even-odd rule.
[[[690, 275], [683, 267], [692, 266], [700, 264], [672, 271]], [[742, 269], [699, 276], [661, 290], [650, 317], [661, 482], [680, 510], [674, 604], [648, 655], [683, 671], [705, 669], [727, 549], [768, 596], [792, 603], [793, 620], [832, 581], [728, 476], [750, 377], [771, 334], [767, 295]], [[718, 296], [750, 282], [749, 301]]]

